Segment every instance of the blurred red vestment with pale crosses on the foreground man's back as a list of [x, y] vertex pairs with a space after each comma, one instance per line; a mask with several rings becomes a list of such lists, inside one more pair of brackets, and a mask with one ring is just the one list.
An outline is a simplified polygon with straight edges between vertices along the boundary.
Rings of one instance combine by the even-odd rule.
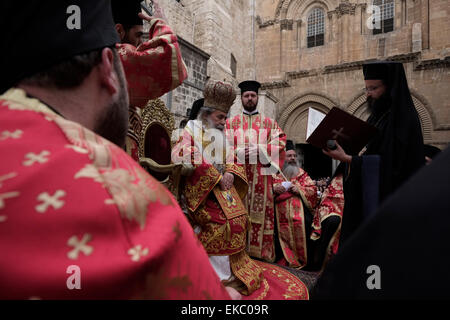
[[116, 145], [10, 89], [0, 154], [0, 299], [229, 299], [173, 196]]

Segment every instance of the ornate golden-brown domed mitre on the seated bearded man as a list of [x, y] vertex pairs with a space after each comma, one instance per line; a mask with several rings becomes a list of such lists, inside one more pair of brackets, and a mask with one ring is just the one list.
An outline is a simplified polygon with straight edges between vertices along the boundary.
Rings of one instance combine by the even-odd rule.
[[203, 91], [204, 106], [228, 113], [236, 99], [236, 91], [231, 83], [210, 80]]

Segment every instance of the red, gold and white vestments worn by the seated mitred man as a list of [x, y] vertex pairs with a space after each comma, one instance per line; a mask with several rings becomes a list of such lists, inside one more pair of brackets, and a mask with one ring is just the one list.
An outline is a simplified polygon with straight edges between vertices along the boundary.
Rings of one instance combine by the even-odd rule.
[[[172, 161], [193, 164], [193, 172], [185, 178], [183, 195], [193, 227], [200, 227], [198, 238], [210, 256], [229, 256], [230, 268], [237, 278], [224, 282], [243, 294], [244, 299], [308, 299], [306, 286], [286, 270], [251, 259], [246, 252], [248, 213], [242, 204], [247, 195], [247, 177], [234, 154], [223, 168], [207, 159], [204, 150], [211, 144], [203, 139], [205, 130], [199, 121], [189, 121], [172, 150]], [[196, 130], [197, 128], [197, 130]], [[223, 158], [227, 152], [223, 149]], [[197, 160], [197, 161], [196, 161]], [[200, 161], [199, 161], [200, 160]], [[233, 200], [222, 200], [219, 182], [225, 172], [234, 175], [236, 190]], [[234, 202], [241, 202], [241, 206]], [[239, 208], [236, 212], [235, 208]]]

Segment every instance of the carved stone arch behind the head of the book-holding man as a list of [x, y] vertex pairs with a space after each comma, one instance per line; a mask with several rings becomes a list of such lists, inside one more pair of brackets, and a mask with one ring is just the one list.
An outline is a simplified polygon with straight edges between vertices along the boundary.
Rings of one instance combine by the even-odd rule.
[[[419, 115], [424, 142], [430, 143], [432, 141], [432, 132], [434, 130], [434, 114], [428, 105], [423, 102], [423, 99], [419, 98], [416, 93], [411, 92], [411, 97], [414, 102], [414, 107]], [[361, 93], [358, 95], [358, 97], [348, 106], [347, 112], [362, 120], [367, 120], [369, 112], [366, 103], [366, 94]]]

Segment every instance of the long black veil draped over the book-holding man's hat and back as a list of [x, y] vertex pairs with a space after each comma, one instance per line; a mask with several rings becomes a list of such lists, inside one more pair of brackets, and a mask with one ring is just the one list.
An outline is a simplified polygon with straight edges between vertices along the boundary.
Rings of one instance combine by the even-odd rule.
[[[398, 62], [380, 61], [363, 65], [364, 79], [383, 80], [387, 87], [386, 103], [390, 104], [385, 120], [375, 112], [367, 120], [371, 124], [385, 123], [382, 133], [368, 146], [368, 154], [383, 155], [381, 183], [386, 186], [383, 194], [391, 193], [407, 177], [424, 164], [422, 127], [408, 88], [403, 65]], [[373, 152], [372, 152], [373, 151]]]

